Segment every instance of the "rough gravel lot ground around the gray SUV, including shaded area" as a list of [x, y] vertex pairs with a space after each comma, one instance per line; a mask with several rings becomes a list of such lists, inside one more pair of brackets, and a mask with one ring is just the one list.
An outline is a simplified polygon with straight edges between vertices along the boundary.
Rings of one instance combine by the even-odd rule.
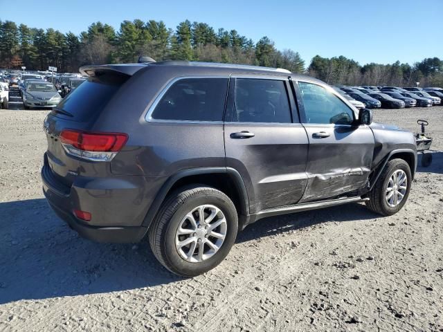
[[193, 279], [147, 243], [93, 243], [57, 219], [39, 180], [46, 113], [0, 110], [0, 331], [443, 331], [443, 107], [374, 111], [433, 133], [401, 212], [264, 219]]

